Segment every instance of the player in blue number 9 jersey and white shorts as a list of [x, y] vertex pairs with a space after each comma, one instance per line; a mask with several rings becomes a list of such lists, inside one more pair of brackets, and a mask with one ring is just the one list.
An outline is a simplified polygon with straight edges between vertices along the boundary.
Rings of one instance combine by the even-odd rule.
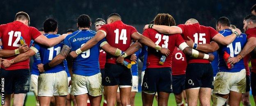
[[[39, 71], [48, 70], [48, 68], [61, 63], [69, 54], [84, 45], [88, 40], [94, 38], [96, 32], [89, 30], [91, 20], [88, 15], [80, 15], [77, 19], [79, 31], [68, 35], [64, 40], [62, 51], [51, 62], [40, 64]], [[136, 46], [136, 45], [135, 45]], [[78, 106], [87, 105], [87, 93], [89, 94], [90, 104], [100, 106], [102, 95], [101, 73], [98, 62], [99, 49], [103, 49], [111, 55], [121, 55], [121, 50], [107, 44], [105, 39], [101, 40], [91, 49], [84, 51], [79, 57], [73, 60], [73, 76], [71, 95], [75, 95]], [[135, 51], [138, 49], [132, 48]], [[129, 54], [130, 55], [130, 54]]]

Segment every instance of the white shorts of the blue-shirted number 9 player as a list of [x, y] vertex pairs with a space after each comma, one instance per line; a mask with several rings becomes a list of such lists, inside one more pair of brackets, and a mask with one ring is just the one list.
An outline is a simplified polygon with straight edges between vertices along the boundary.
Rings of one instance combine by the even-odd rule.
[[82, 76], [73, 74], [71, 95], [82, 95], [89, 93], [91, 96], [102, 95], [101, 73], [92, 76]]

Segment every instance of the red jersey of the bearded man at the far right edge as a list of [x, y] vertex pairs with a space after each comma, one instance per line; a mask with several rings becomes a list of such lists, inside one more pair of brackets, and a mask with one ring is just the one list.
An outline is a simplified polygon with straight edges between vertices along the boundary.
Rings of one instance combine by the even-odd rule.
[[[247, 40], [251, 37], [256, 38], [256, 28], [247, 29], [245, 31], [245, 34], [247, 35]], [[256, 54], [250, 53], [250, 55], [251, 55], [251, 72], [256, 73]]]

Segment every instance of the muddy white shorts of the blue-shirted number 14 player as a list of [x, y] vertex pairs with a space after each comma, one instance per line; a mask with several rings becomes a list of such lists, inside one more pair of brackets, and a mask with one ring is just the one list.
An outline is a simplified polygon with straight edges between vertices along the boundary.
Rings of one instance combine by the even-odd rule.
[[240, 72], [218, 72], [215, 81], [213, 93], [222, 95], [229, 94], [230, 91], [245, 93], [246, 89], [246, 71], [242, 69]]

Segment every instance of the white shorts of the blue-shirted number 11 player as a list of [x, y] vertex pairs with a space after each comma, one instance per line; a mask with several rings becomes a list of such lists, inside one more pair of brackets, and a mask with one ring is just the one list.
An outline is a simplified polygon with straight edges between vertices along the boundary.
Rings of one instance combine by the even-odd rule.
[[69, 94], [66, 71], [43, 73], [38, 77], [38, 96], [64, 96]]

